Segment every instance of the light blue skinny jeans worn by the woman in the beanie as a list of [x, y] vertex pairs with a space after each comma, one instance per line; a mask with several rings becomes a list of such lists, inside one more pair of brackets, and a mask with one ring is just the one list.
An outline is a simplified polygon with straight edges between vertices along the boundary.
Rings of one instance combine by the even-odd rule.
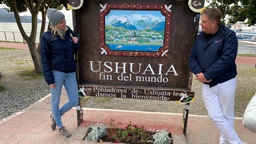
[[[79, 92], [76, 83], [76, 72], [65, 73], [54, 70], [53, 76], [55, 78], [55, 88], [51, 88], [51, 107], [56, 124], [58, 127], [61, 127], [63, 126], [61, 116], [70, 109], [72, 109], [72, 107], [79, 104]], [[66, 104], [64, 104], [61, 109], [59, 109], [61, 89], [63, 85], [68, 93], [69, 101], [66, 102]]]

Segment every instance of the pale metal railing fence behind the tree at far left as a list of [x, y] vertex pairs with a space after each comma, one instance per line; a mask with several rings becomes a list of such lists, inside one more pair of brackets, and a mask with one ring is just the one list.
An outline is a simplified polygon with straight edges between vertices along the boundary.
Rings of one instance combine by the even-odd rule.
[[[30, 35], [30, 33], [27, 33], [27, 35]], [[36, 40], [35, 40], [36, 43], [39, 43], [39, 37], [40, 37], [40, 33], [37, 33]], [[18, 31], [0, 31], [0, 41], [26, 43], [26, 41], [23, 39], [23, 36]]]

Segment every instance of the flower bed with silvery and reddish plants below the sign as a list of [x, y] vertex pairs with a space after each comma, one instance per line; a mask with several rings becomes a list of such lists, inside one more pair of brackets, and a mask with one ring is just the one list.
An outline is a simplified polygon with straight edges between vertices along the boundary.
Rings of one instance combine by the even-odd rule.
[[131, 121], [125, 128], [119, 128], [114, 119], [110, 121], [110, 127], [104, 124], [91, 124], [85, 135], [85, 141], [132, 143], [132, 144], [171, 144], [171, 133], [166, 130], [157, 132], [147, 131], [144, 126], [132, 125]]

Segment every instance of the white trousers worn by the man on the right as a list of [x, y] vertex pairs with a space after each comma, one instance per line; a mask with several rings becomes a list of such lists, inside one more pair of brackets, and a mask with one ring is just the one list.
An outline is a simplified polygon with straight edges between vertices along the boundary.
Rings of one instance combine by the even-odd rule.
[[214, 87], [209, 87], [209, 85], [203, 84], [203, 101], [208, 110], [210, 119], [212, 119], [218, 130], [221, 132], [221, 143], [242, 143], [233, 128], [235, 123], [235, 95], [236, 78], [232, 78], [224, 83], [219, 83]]

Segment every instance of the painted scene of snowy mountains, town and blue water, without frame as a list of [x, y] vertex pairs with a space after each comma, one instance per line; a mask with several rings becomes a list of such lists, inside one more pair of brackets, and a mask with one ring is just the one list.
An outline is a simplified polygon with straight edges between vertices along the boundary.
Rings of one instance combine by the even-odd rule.
[[105, 44], [112, 51], [157, 52], [165, 42], [160, 10], [110, 10], [105, 15]]

